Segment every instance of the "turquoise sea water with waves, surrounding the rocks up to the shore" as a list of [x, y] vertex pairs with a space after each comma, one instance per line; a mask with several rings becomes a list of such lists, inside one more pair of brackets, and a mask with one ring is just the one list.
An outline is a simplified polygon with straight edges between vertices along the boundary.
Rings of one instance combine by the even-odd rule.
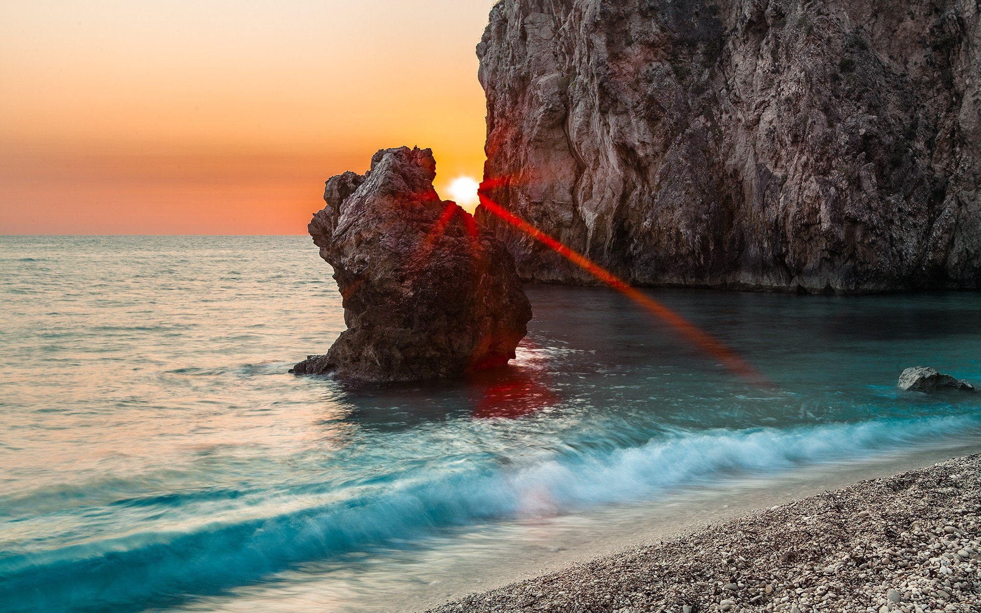
[[412, 608], [753, 487], [981, 451], [981, 395], [895, 386], [981, 383], [979, 293], [648, 290], [760, 387], [613, 290], [530, 286], [511, 367], [349, 386], [286, 373], [343, 330], [331, 272], [300, 236], [0, 237], [0, 609]]

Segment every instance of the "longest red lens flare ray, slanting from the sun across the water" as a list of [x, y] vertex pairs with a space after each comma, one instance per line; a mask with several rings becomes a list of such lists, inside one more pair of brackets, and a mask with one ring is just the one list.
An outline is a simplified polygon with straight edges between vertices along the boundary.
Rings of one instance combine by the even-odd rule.
[[498, 218], [507, 222], [511, 226], [514, 226], [518, 230], [525, 232], [549, 249], [552, 249], [576, 266], [585, 270], [587, 273], [593, 275], [599, 281], [602, 281], [606, 285], [609, 285], [610, 287], [631, 298], [643, 306], [649, 313], [671, 326], [671, 328], [681, 333], [681, 335], [690, 342], [717, 359], [733, 373], [736, 373], [737, 375], [749, 380], [751, 383], [766, 387], [773, 386], [773, 383], [770, 383], [763, 378], [756, 372], [755, 369], [753, 369], [741, 357], [736, 355], [736, 353], [734, 353], [731, 349], [709, 336], [706, 332], [702, 332], [695, 324], [692, 324], [681, 315], [678, 315], [657, 300], [654, 300], [650, 296], [646, 295], [640, 289], [631, 286], [627, 281], [623, 281], [598, 264], [595, 264], [583, 254], [570, 249], [548, 234], [542, 232], [542, 230], [539, 230], [514, 213], [511, 213], [504, 207], [498, 205], [496, 202], [493, 202], [483, 193], [483, 190], [479, 192], [478, 195], [480, 196], [481, 206], [483, 206], [488, 212], [496, 215]]

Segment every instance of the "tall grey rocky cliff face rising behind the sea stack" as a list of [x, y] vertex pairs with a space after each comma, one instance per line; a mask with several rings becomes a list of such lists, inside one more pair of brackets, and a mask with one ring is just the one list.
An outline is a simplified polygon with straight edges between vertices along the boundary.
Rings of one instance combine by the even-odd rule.
[[478, 55], [488, 195], [628, 281], [981, 284], [976, 0], [503, 0]]

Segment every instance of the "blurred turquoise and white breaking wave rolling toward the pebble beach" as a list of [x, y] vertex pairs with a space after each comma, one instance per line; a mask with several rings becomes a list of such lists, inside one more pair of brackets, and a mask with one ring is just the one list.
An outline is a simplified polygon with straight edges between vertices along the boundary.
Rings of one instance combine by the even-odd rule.
[[720, 473], [759, 477], [978, 427], [976, 418], [957, 416], [786, 431], [676, 432], [600, 454], [542, 454], [493, 470], [410, 472], [393, 482], [352, 487], [333, 503], [282, 515], [4, 556], [0, 597], [11, 611], [67, 611], [92, 598], [115, 610], [137, 610], [160, 591], [207, 593], [389, 538], [634, 500], [711, 482]]

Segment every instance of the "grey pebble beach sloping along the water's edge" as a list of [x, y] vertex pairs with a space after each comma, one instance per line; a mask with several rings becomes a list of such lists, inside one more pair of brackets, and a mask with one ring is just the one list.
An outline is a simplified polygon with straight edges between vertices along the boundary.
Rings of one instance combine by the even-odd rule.
[[981, 613], [981, 455], [863, 481], [430, 611]]

